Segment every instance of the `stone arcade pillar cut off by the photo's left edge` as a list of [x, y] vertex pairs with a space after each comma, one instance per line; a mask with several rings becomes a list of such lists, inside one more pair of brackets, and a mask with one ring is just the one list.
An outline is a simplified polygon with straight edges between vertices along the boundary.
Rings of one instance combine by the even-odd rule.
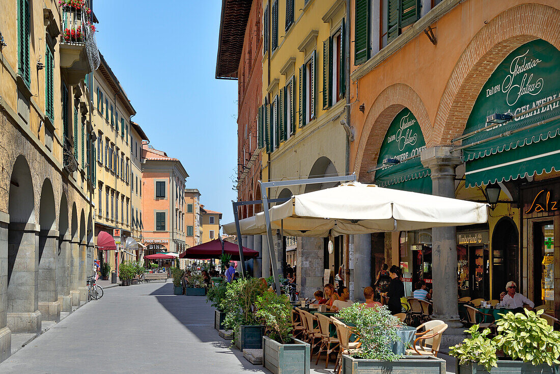
[[6, 325], [8, 310], [8, 225], [10, 216], [0, 212], [0, 362], [12, 354], [12, 331]]

